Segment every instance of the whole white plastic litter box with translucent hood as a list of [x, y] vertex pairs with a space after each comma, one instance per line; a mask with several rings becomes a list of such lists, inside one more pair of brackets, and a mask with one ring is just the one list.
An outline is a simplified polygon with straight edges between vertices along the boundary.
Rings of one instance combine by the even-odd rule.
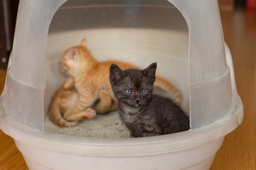
[[[243, 119], [217, 0], [22, 0], [0, 128], [31, 170], [207, 170]], [[86, 38], [98, 60], [121, 59], [157, 73], [182, 94], [191, 130], [126, 139], [44, 131], [50, 97], [66, 78], [61, 54]]]

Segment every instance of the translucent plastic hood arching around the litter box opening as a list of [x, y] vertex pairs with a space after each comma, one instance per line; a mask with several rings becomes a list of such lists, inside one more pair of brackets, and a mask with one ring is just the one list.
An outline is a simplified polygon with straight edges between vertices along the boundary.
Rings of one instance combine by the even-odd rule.
[[[12, 61], [7, 73], [5, 114], [39, 130], [43, 129], [44, 123], [43, 98], [49, 25], [54, 13], [65, 1], [25, 0], [19, 5]], [[236, 108], [230, 70], [226, 62], [218, 1], [169, 1], [184, 16], [189, 30], [189, 102], [193, 130], [214, 123]], [[96, 3], [94, 1], [91, 7], [97, 6]], [[117, 6], [125, 5], [122, 3], [116, 1]], [[142, 1], [127, 5], [143, 7], [147, 3]], [[158, 4], [149, 5], [157, 7]], [[175, 7], [167, 6], [178, 11]]]

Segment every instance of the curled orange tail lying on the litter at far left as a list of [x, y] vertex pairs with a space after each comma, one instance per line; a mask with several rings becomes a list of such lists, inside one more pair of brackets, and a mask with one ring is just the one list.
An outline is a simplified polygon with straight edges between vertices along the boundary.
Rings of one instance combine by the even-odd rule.
[[79, 121], [67, 121], [61, 115], [60, 98], [53, 97], [49, 107], [49, 118], [59, 127], [75, 126]]

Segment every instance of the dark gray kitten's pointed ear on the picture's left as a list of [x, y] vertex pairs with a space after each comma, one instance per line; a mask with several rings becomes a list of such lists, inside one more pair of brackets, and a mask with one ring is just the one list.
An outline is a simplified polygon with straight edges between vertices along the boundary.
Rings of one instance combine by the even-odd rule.
[[112, 85], [116, 85], [118, 80], [125, 75], [124, 71], [120, 69], [116, 64], [112, 64], [109, 68], [109, 81]]

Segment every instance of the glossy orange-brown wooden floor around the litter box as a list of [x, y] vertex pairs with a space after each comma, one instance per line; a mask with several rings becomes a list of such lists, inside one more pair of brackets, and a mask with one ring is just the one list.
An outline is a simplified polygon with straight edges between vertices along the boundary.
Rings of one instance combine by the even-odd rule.
[[[244, 120], [226, 135], [211, 170], [256, 170], [256, 11], [221, 11], [223, 33], [233, 56]], [[0, 90], [5, 71], [0, 71]], [[26, 170], [14, 140], [0, 131], [0, 170]]]

